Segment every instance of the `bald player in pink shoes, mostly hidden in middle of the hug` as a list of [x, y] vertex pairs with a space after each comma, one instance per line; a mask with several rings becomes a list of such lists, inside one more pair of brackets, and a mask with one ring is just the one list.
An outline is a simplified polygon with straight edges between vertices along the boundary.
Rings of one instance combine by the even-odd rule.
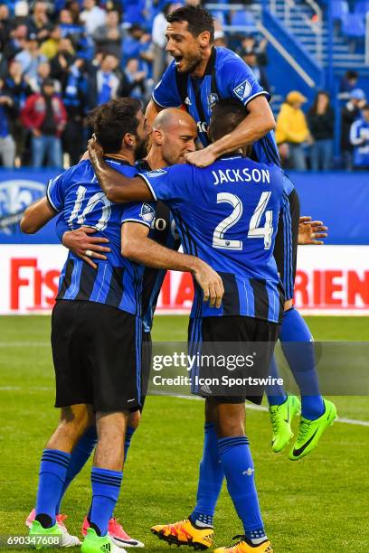
[[[168, 108], [162, 111], [154, 122], [151, 149], [144, 159], [137, 161], [137, 169], [139, 171], [150, 171], [151, 169], [160, 169], [172, 164], [185, 163], [185, 154], [194, 151], [196, 138], [197, 130], [194, 119], [185, 111], [176, 108]], [[139, 207], [138, 211], [140, 209]], [[155, 220], [153, 220], [149, 231], [146, 225], [141, 225], [140, 222], [136, 221], [126, 222], [124, 225], [123, 243], [125, 245], [126, 257], [136, 258], [137, 263], [144, 264], [145, 257], [147, 256], [147, 237], [155, 240], [166, 248], [178, 250], [180, 246], [181, 242], [175, 231], [174, 219], [169, 208], [164, 202], [157, 202], [155, 210]], [[96, 229], [82, 227], [77, 230], [70, 230], [69, 225], [65, 223], [62, 215], [57, 222], [56, 228], [63, 245], [69, 248], [75, 256], [84, 259], [91, 267], [95, 269], [98, 267], [93, 262], [94, 257], [97, 259], [108, 259], [107, 254], [110, 251], [108, 247], [109, 240], [102, 237], [94, 237], [91, 233], [96, 232]], [[148, 247], [149, 246], [150, 244], [148, 243]], [[86, 251], [89, 253], [89, 256], [86, 256]], [[150, 331], [153, 323], [153, 315], [165, 276], [166, 269], [156, 269], [152, 267], [145, 267], [143, 273], [141, 294], [142, 318], [144, 323], [144, 342], [147, 347], [149, 342], [151, 342]], [[127, 460], [131, 438], [140, 421], [142, 408], [143, 404], [141, 404], [139, 409], [132, 409], [128, 416], [128, 428], [124, 445], [125, 462]], [[90, 426], [80, 438], [80, 442], [71, 452], [71, 463], [68, 467], [66, 482], [61, 491], [61, 498], [57, 506], [57, 520], [61, 523], [65, 517], [65, 515], [61, 514], [62, 498], [69, 484], [89, 459], [90, 454], [96, 446], [96, 441], [96, 428], [95, 426]], [[34, 514], [33, 510], [27, 517], [26, 524], [28, 526], [31, 526]], [[82, 533], [84, 535], [89, 525], [90, 513], [83, 521]], [[63, 524], [63, 530], [64, 533], [67, 532], [65, 524]], [[121, 548], [125, 546], [144, 547], [141, 541], [131, 538], [115, 518], [109, 520], [109, 536], [113, 543]], [[73, 543], [72, 539], [70, 539], [70, 541]]]

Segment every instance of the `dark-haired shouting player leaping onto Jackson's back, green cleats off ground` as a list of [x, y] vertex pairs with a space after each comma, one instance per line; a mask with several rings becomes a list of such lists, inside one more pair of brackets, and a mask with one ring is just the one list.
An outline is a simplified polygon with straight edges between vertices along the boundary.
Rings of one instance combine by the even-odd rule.
[[[203, 150], [186, 155], [186, 159], [199, 167], [245, 145], [252, 145], [252, 159], [280, 165], [278, 148], [270, 132], [275, 127], [268, 104], [270, 95], [261, 89], [251, 69], [238, 55], [226, 48], [213, 47], [212, 15], [202, 7], [187, 5], [166, 19], [166, 51], [174, 61], [153, 92], [147, 107], [147, 120], [151, 123], [163, 108], [185, 107], [197, 122], [204, 146]], [[220, 98], [235, 98], [247, 108], [247, 117], [229, 135], [212, 142], [206, 129], [213, 106]], [[274, 255], [286, 294], [280, 342], [302, 398], [298, 436], [289, 452], [292, 461], [312, 451], [327, 428], [327, 419], [336, 417], [336, 407], [322, 398], [319, 391], [312, 335], [293, 305], [298, 221], [298, 193], [285, 175]], [[271, 376], [277, 375], [273, 361]], [[273, 428], [272, 449], [278, 453], [293, 436], [291, 420], [298, 413], [300, 403], [298, 398], [278, 388], [268, 391], [268, 400]]]

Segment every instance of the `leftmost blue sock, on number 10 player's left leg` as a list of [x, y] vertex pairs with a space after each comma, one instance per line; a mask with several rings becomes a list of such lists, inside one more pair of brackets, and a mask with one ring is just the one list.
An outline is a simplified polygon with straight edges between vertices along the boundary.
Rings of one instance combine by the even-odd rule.
[[[46, 527], [55, 524], [56, 506], [61, 497], [71, 454], [59, 449], [44, 449], [40, 464], [40, 478], [36, 501], [36, 520]], [[38, 515], [42, 515], [38, 518]], [[48, 518], [43, 517], [47, 515]]]

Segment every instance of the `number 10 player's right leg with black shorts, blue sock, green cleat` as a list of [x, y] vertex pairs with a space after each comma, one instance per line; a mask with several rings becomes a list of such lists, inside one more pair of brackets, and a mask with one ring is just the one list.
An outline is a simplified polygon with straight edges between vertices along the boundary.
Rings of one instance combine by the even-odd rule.
[[90, 338], [90, 365], [98, 445], [91, 472], [90, 523], [82, 544], [85, 553], [98, 551], [108, 542], [115, 548], [109, 525], [122, 479], [128, 417], [131, 409], [141, 405], [142, 383], [140, 320], [109, 305], [95, 305], [93, 309], [96, 313], [90, 316], [90, 336], [96, 340]]

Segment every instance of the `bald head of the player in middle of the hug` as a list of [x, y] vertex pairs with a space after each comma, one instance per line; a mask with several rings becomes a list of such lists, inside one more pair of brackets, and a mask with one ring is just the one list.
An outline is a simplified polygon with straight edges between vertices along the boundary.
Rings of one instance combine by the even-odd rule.
[[196, 149], [194, 118], [183, 109], [163, 109], [154, 120], [152, 138], [152, 147], [160, 150], [166, 165], [184, 164], [185, 154]]

